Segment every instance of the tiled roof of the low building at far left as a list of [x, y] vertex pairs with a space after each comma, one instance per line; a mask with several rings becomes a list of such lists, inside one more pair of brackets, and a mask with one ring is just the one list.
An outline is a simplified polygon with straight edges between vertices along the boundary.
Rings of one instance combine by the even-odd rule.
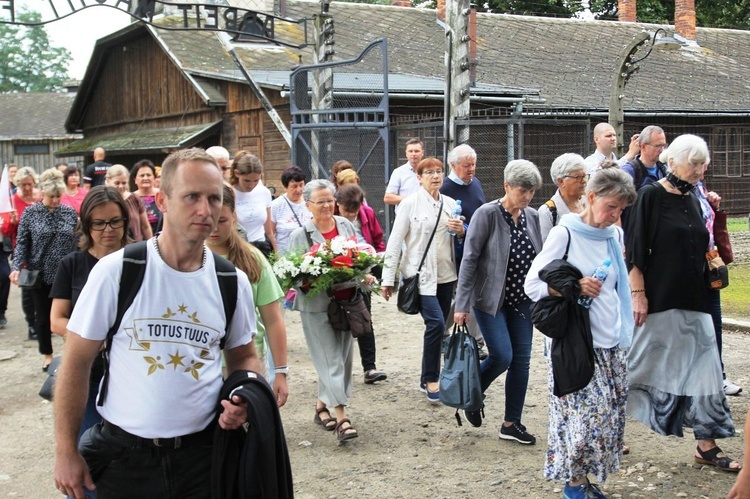
[[73, 94], [0, 94], [0, 140], [74, 139], [65, 131]]

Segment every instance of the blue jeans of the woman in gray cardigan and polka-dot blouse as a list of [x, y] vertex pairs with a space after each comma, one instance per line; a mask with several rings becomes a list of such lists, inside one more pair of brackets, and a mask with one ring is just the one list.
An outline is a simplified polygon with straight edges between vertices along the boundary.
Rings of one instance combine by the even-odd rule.
[[505, 379], [505, 421], [521, 422], [526, 388], [529, 385], [531, 361], [531, 300], [525, 300], [514, 310], [500, 307], [492, 316], [475, 308], [477, 324], [482, 330], [489, 357], [481, 364], [482, 392], [495, 379], [508, 371]]

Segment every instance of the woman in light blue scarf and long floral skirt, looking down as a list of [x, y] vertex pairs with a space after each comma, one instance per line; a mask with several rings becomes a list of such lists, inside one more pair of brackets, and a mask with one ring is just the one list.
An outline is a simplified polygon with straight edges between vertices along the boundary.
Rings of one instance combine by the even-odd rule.
[[614, 224], [635, 198], [627, 173], [616, 168], [596, 172], [586, 186], [586, 209], [560, 219], [526, 277], [526, 294], [538, 301], [550, 294], [559, 295], [539, 278], [539, 272], [552, 260], [564, 258], [568, 245], [567, 261], [583, 276], [591, 276], [605, 260], [611, 261], [603, 283], [593, 277], [578, 281], [581, 295], [594, 298], [589, 308], [595, 356], [591, 381], [580, 390], [557, 397], [553, 394], [551, 366], [549, 370], [544, 476], [566, 481], [563, 497], [568, 499], [606, 497], [589, 482], [588, 475], [604, 482], [620, 468], [628, 393], [625, 354], [633, 330], [633, 312], [622, 252], [623, 233]]

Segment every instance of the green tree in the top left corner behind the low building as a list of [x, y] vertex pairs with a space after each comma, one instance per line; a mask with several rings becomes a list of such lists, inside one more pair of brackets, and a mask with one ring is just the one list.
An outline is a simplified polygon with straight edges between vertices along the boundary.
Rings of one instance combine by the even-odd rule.
[[[38, 23], [38, 12], [21, 12], [18, 21]], [[68, 78], [70, 52], [50, 45], [43, 26], [0, 24], [0, 92], [51, 92]]]

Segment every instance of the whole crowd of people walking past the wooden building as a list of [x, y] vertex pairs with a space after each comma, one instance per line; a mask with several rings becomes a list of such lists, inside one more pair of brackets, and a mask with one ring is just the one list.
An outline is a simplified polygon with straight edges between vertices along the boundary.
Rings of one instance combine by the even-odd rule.
[[[277, 406], [288, 400], [288, 308], [300, 313], [317, 374], [313, 422], [339, 442], [359, 437], [347, 415], [355, 338], [337, 329], [330, 307], [361, 294], [371, 311], [371, 285], [380, 282], [389, 300], [401, 279], [416, 275], [424, 321], [419, 389], [440, 403], [444, 338], [452, 324], [468, 326], [480, 348], [483, 396], [497, 396], [493, 382], [506, 374], [501, 439], [537, 441], [540, 429], [522, 423], [532, 317], [543, 307], [562, 314], [554, 334], [543, 331], [543, 473], [565, 483], [564, 497], [606, 497], [589, 477], [604, 483], [619, 469], [628, 452], [626, 416], [661, 435], [692, 428], [695, 461], [740, 472], [731, 494], [746, 497], [750, 478], [716, 442], [735, 434], [726, 396], [742, 389], [724, 373], [720, 292], [706, 281], [706, 253], [726, 230], [721, 197], [701, 182], [707, 145], [695, 135], [668, 145], [664, 130], [649, 126], [617, 158], [606, 123], [595, 128], [594, 142], [586, 158], [554, 160], [551, 199], [534, 200], [544, 182], [537, 166], [513, 160], [502, 197], [488, 202], [474, 149], [457, 146], [444, 165], [410, 139], [407, 162], [386, 188], [384, 202], [396, 210], [387, 241], [345, 160], [332, 165], [331, 181], [288, 167], [280, 178], [285, 192], [275, 199], [257, 156], [232, 157], [219, 146], [178, 151], [161, 167], [111, 165], [97, 148], [83, 175], [67, 165], [41, 175], [17, 169], [13, 210], [0, 226], [3, 260], [12, 257], [5, 280], [19, 284], [21, 271], [37, 271], [22, 303], [43, 370], [52, 361], [51, 334], [66, 340], [55, 402], [56, 486], [76, 498], [94, 490], [96, 497], [207, 491], [213, 428], [239, 428], [248, 414], [235, 397], [214, 418], [222, 367], [262, 373]], [[338, 236], [371, 247], [382, 267], [314, 296], [309, 282], [279, 286], [275, 255], [302, 254]], [[143, 245], [143, 281], [119, 310], [113, 302], [121, 304], [129, 260], [121, 250], [135, 242]], [[227, 272], [222, 261], [237, 270]], [[601, 268], [606, 279], [596, 277]], [[228, 295], [226, 274], [237, 288]], [[8, 282], [0, 286], [0, 311]], [[87, 305], [76, 307], [79, 300]], [[375, 332], [356, 340], [364, 384], [386, 380]], [[482, 406], [464, 417], [479, 427], [492, 415]], [[178, 480], [164, 471], [175, 466], [193, 472]]]

